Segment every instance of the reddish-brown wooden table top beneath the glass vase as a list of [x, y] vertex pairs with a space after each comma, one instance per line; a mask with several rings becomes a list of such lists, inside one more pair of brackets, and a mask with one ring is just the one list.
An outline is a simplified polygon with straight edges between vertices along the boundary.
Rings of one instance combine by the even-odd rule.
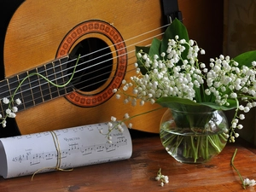
[[[177, 162], [166, 153], [158, 136], [133, 138], [129, 160], [74, 168], [72, 172], [48, 172], [31, 176], [0, 178], [1, 192], [70, 191], [244, 191], [230, 159], [238, 148], [235, 165], [243, 177], [256, 179], [256, 148], [229, 143], [224, 151], [206, 164]], [[160, 187], [156, 173], [169, 176], [170, 183]], [[247, 188], [255, 191], [256, 186]]]

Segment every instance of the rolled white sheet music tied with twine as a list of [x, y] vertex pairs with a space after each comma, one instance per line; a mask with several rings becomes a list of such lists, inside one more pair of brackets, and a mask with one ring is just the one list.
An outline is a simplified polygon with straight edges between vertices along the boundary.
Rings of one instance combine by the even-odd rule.
[[[108, 131], [108, 124], [84, 125], [57, 131], [46, 131], [0, 139], [0, 175], [4, 178], [32, 175], [125, 160], [131, 157], [131, 136], [113, 131], [112, 143], [99, 131]], [[59, 157], [59, 159], [58, 159]], [[59, 164], [59, 165], [58, 165]]]

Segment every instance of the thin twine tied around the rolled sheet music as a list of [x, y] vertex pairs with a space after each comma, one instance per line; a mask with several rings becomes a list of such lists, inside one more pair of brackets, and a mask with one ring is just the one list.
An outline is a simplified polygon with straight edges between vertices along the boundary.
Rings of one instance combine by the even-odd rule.
[[61, 167], [61, 147], [60, 147], [60, 143], [59, 143], [59, 140], [58, 140], [58, 137], [57, 137], [55, 131], [49, 131], [49, 132], [50, 132], [50, 134], [53, 138], [53, 141], [55, 143], [56, 152], [57, 152], [56, 166], [54, 166], [54, 167], [44, 167], [44, 168], [38, 169], [36, 172], [33, 173], [31, 180], [33, 180], [33, 177], [38, 172], [41, 172], [45, 169], [55, 169], [56, 171], [61, 171], [61, 172], [71, 172], [71, 171], [73, 171], [73, 168], [72, 169], [61, 169], [60, 168]]

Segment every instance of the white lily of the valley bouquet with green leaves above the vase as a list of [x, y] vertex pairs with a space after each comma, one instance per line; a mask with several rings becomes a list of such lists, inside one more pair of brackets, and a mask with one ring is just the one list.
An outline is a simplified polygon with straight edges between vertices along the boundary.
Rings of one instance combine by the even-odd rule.
[[[174, 20], [162, 41], [155, 38], [150, 48], [137, 47], [137, 75], [113, 92], [116, 98], [123, 97], [124, 102], [131, 102], [132, 106], [137, 102], [141, 106], [145, 102], [157, 102], [170, 107], [176, 102], [217, 110], [235, 109], [230, 130], [225, 131], [226, 137], [234, 143], [239, 137], [236, 130], [243, 128], [240, 120], [256, 106], [256, 52], [250, 51], [234, 59], [219, 55], [211, 58], [208, 65], [199, 61], [200, 54], [205, 54], [205, 50], [189, 39], [179, 20]], [[128, 94], [130, 89], [132, 94]], [[118, 125], [133, 118], [125, 117]], [[109, 132], [118, 125], [110, 124]]]

